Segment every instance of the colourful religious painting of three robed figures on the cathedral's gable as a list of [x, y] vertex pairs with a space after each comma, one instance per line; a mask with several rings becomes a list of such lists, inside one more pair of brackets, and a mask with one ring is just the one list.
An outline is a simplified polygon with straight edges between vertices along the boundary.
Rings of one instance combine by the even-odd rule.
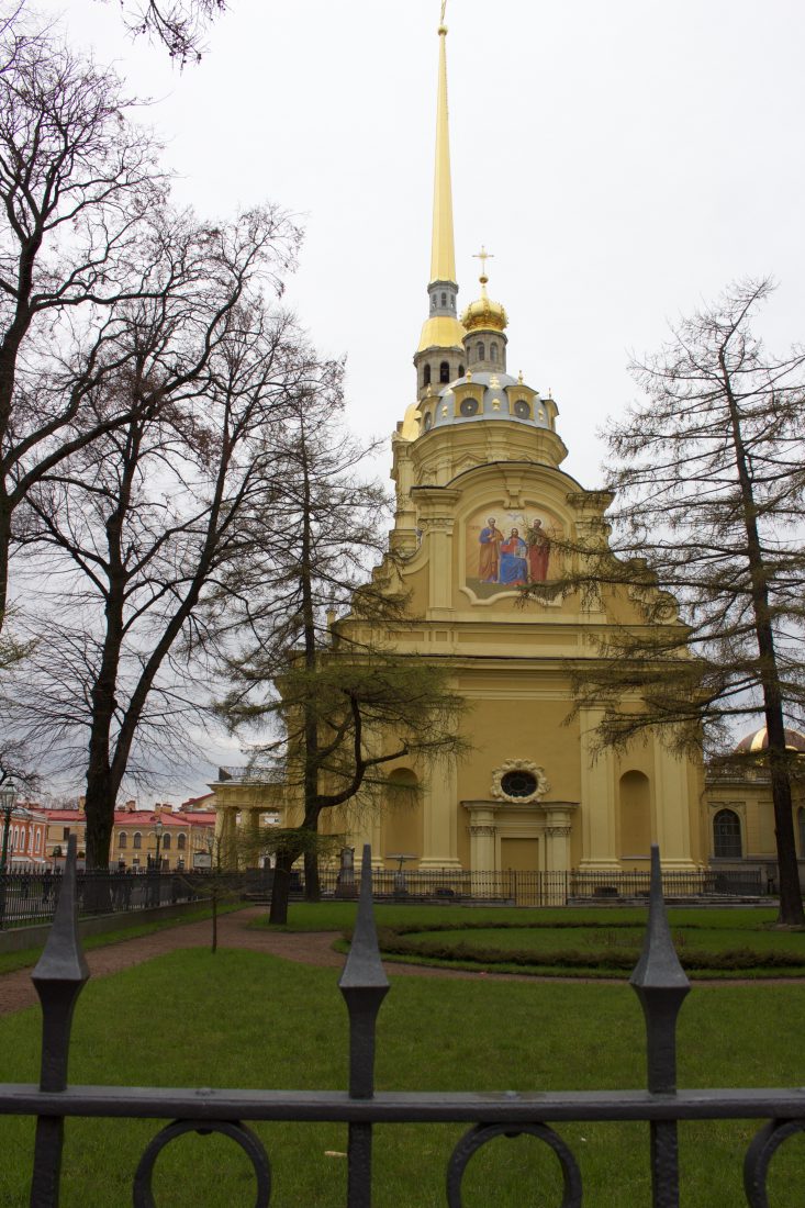
[[467, 523], [465, 582], [477, 599], [551, 577], [552, 540], [561, 528], [549, 512], [485, 507]]

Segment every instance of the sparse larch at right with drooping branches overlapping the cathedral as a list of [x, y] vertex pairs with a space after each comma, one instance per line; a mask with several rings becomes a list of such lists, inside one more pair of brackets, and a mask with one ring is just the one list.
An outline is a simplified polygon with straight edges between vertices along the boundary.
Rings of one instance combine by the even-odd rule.
[[784, 727], [805, 716], [805, 353], [753, 336], [770, 290], [731, 286], [632, 366], [647, 401], [606, 434], [612, 542], [568, 545], [564, 575], [529, 591], [627, 594], [638, 610], [641, 625], [598, 631], [600, 662], [577, 675], [604, 744], [659, 727], [723, 751], [736, 721], [764, 716], [780, 917], [803, 923]]

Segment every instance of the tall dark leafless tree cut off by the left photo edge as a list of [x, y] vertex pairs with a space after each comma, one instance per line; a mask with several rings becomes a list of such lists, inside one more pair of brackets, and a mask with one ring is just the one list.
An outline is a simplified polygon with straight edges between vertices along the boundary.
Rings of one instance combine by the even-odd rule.
[[128, 104], [114, 71], [24, 12], [0, 27], [0, 626], [15, 512], [116, 422], [82, 423], [83, 401], [110, 313], [151, 292], [141, 226], [166, 180]]

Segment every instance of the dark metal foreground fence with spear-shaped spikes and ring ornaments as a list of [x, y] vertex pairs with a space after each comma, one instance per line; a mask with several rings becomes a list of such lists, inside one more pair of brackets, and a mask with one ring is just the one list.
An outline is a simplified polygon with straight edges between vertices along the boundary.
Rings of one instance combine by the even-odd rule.
[[[651, 853], [651, 896], [643, 952], [631, 976], [647, 1032], [648, 1090], [499, 1093], [375, 1091], [377, 1014], [389, 989], [377, 946], [371, 899], [371, 853], [363, 856], [361, 893], [352, 947], [341, 980], [349, 1017], [347, 1091], [157, 1090], [68, 1085], [70, 1026], [89, 972], [76, 922], [75, 840], [59, 904], [33, 980], [42, 1004], [42, 1056], [39, 1087], [0, 1085], [0, 1113], [36, 1116], [31, 1208], [57, 1208], [64, 1121], [76, 1116], [164, 1119], [145, 1149], [133, 1184], [134, 1208], [155, 1208], [151, 1177], [160, 1152], [187, 1132], [216, 1132], [249, 1156], [256, 1178], [255, 1208], [268, 1208], [272, 1175], [260, 1138], [244, 1121], [329, 1121], [348, 1126], [347, 1208], [371, 1206], [372, 1128], [376, 1123], [459, 1122], [471, 1127], [458, 1142], [446, 1172], [447, 1208], [461, 1208], [462, 1181], [475, 1152], [493, 1138], [527, 1134], [557, 1158], [563, 1180], [560, 1208], [581, 1208], [577, 1160], [551, 1127], [568, 1121], [642, 1121], [648, 1127], [648, 1161], [654, 1208], [678, 1208], [679, 1120], [765, 1119], [743, 1167], [749, 1208], [769, 1208], [766, 1175], [775, 1151], [805, 1131], [805, 1088], [677, 1088], [676, 1026], [690, 986], [677, 959], [665, 913], [660, 859]], [[203, 1204], [202, 1204], [203, 1208]]]

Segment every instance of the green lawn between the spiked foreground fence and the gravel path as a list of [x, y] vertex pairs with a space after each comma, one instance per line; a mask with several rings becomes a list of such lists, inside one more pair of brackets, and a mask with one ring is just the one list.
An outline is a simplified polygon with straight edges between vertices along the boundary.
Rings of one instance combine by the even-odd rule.
[[[593, 1090], [644, 1085], [643, 1021], [625, 985], [394, 977], [380, 1015], [377, 1085], [398, 1090]], [[76, 1009], [75, 1082], [341, 1088], [347, 1015], [334, 970], [250, 952], [202, 949], [91, 981]], [[682, 1086], [801, 1085], [805, 992], [799, 986], [694, 987], [681, 1015]], [[2, 1078], [29, 1081], [39, 1012], [0, 1020]], [[71, 1121], [63, 1208], [123, 1208], [155, 1122]], [[346, 1129], [257, 1125], [274, 1169], [272, 1208], [343, 1208]], [[685, 1125], [684, 1208], [739, 1208], [752, 1122]], [[463, 1129], [381, 1126], [375, 1208], [436, 1208]], [[562, 1126], [590, 1208], [645, 1208], [648, 1127]], [[27, 1203], [33, 1125], [0, 1120], [0, 1204]], [[500, 1139], [470, 1165], [465, 1208], [552, 1208], [556, 1172], [527, 1138]], [[552, 1161], [552, 1160], [551, 1160]], [[542, 1180], [542, 1181], [539, 1181]], [[490, 1190], [493, 1189], [493, 1190]], [[166, 1208], [254, 1202], [245, 1160], [230, 1143], [186, 1137], [160, 1158]], [[801, 1208], [805, 1145], [772, 1163], [771, 1208]]]

